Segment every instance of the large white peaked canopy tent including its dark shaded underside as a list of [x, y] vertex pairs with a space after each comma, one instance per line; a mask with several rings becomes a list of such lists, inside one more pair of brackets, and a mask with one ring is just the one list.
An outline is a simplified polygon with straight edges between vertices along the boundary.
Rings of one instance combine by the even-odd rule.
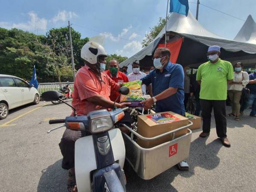
[[[157, 37], [141, 51], [120, 64], [120, 67], [139, 60], [141, 66], [153, 65], [152, 54], [158, 44], [164, 43], [165, 27]], [[252, 67], [256, 63], [256, 44], [232, 41], [209, 32], [189, 12], [188, 16], [172, 13], [167, 21], [167, 43], [183, 38], [177, 63], [198, 67], [207, 61], [206, 53], [209, 46], [221, 47], [221, 58], [232, 63], [243, 62]]]

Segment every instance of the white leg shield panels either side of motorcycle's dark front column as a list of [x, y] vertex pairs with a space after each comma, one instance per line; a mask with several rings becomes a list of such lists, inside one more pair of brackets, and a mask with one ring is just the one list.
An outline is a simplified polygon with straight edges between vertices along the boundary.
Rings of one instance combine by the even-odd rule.
[[[125, 163], [125, 144], [119, 129], [108, 131], [113, 157], [123, 169]], [[97, 169], [93, 146], [93, 136], [81, 137], [75, 143], [76, 184], [79, 192], [91, 192], [90, 173]]]

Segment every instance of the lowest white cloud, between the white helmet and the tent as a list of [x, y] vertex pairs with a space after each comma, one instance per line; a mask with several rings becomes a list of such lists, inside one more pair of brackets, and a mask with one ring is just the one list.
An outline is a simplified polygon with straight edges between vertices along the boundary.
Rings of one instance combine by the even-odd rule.
[[119, 55], [124, 55], [130, 57], [140, 51], [142, 49], [142, 45], [139, 41], [131, 41], [130, 43], [125, 44], [122, 49], [117, 49], [116, 53]]

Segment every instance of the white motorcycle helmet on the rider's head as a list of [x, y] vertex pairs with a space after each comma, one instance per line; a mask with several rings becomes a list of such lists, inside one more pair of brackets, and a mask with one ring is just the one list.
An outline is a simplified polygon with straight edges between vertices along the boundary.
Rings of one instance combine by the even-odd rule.
[[97, 64], [97, 58], [99, 56], [106, 56], [107, 52], [105, 51], [102, 45], [89, 41], [81, 49], [81, 58], [84, 61], [89, 62], [90, 64]]

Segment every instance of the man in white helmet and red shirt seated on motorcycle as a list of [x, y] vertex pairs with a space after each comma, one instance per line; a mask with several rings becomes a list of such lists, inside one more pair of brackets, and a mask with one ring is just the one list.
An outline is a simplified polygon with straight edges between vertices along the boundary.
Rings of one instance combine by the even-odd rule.
[[[90, 111], [113, 108], [114, 102], [110, 100], [111, 90], [118, 91], [119, 84], [113, 81], [105, 70], [105, 52], [102, 45], [89, 41], [81, 49], [81, 58], [84, 67], [76, 73], [74, 82], [74, 96], [72, 105], [77, 115], [87, 115]], [[124, 108], [129, 104], [115, 104], [117, 108]], [[73, 113], [72, 113], [73, 115]], [[75, 178], [75, 141], [87, 135], [85, 131], [72, 131], [66, 129], [59, 144], [63, 155], [62, 168], [69, 170], [68, 189], [77, 191]]]

